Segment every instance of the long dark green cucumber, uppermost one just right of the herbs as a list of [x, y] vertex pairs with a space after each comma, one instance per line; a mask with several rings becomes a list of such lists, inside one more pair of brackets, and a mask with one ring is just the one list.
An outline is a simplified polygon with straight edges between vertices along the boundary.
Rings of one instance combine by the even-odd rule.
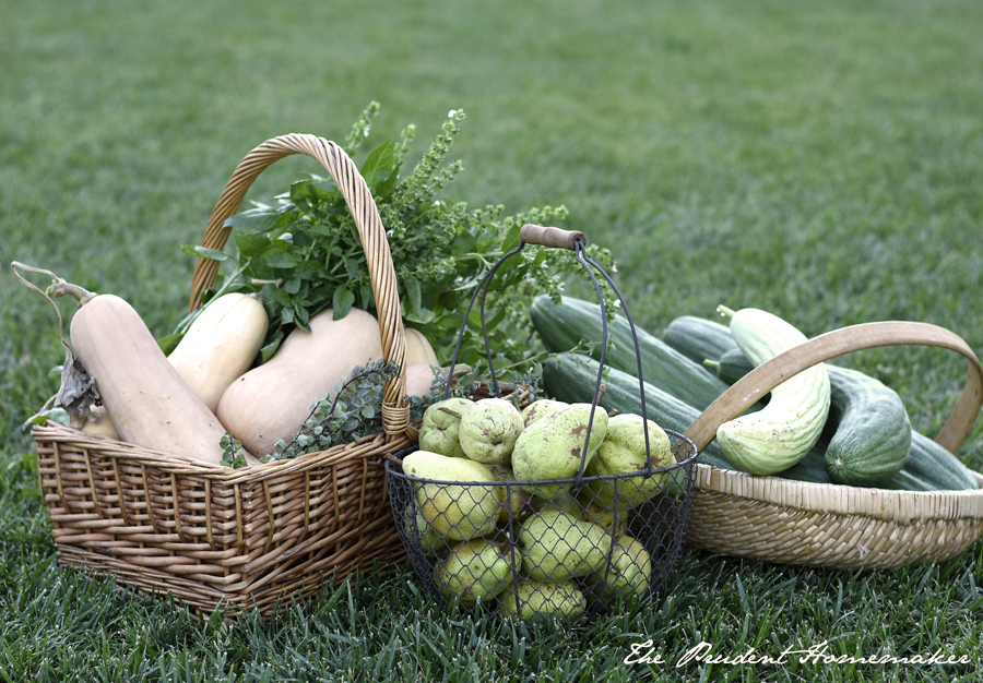
[[[585, 340], [594, 344], [589, 355], [600, 360], [601, 307], [596, 303], [564, 297], [564, 304], [555, 305], [549, 297], [541, 296], [533, 301], [530, 319], [548, 351], [562, 354]], [[615, 317], [607, 332], [614, 346], [605, 354], [605, 366], [637, 378], [638, 358], [628, 321], [620, 315]], [[701, 363], [683, 356], [638, 325], [635, 332], [641, 351], [642, 378], [649, 384], [699, 410], [707, 408], [727, 388]]]

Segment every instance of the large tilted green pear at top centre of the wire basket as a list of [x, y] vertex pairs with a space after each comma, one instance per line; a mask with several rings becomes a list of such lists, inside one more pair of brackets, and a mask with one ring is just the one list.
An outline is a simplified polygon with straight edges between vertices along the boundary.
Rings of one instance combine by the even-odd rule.
[[[591, 404], [570, 404], [536, 420], [516, 441], [516, 448], [512, 451], [512, 470], [516, 477], [523, 481], [575, 477], [583, 459], [588, 424], [591, 424], [587, 453], [587, 462], [590, 464], [604, 441], [607, 421], [607, 414], [601, 407], [594, 410], [594, 419], [591, 421]], [[568, 486], [530, 486], [526, 490], [541, 498], [553, 498]]]

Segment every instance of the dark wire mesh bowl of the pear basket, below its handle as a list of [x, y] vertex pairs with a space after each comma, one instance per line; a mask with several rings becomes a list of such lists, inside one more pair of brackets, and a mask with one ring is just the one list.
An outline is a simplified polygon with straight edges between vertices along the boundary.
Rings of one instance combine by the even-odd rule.
[[[672, 463], [630, 475], [540, 481], [415, 477], [387, 463], [390, 501], [416, 574], [443, 603], [529, 620], [647, 599], [682, 560], [697, 450], [664, 430]], [[423, 453], [423, 455], [421, 455]]]

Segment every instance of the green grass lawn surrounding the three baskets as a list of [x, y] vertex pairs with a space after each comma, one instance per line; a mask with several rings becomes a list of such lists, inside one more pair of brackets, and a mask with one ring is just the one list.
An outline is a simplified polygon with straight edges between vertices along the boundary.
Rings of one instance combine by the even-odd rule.
[[[978, 2], [35, 0], [2, 15], [0, 255], [122, 296], [157, 336], [186, 307], [180, 244], [236, 163], [283, 133], [342, 141], [376, 99], [377, 142], [411, 122], [428, 141], [463, 108], [452, 195], [566, 205], [561, 227], [612, 250], [655, 334], [724, 303], [809, 336], [931, 322], [983, 354]], [[250, 196], [318, 170], [307, 161], [279, 163]], [[570, 625], [448, 615], [408, 570], [268, 623], [192, 622], [57, 567], [20, 424], [57, 391], [63, 352], [54, 311], [9, 271], [0, 300], [0, 681], [934, 681], [974, 680], [983, 658], [981, 543], [871, 573], [690, 550], [654, 602]], [[921, 348], [844, 362], [933, 434], [966, 375]], [[959, 455], [983, 468], [980, 424]], [[666, 663], [624, 664], [646, 640]], [[778, 656], [824, 640], [973, 663], [675, 666], [701, 642]]]

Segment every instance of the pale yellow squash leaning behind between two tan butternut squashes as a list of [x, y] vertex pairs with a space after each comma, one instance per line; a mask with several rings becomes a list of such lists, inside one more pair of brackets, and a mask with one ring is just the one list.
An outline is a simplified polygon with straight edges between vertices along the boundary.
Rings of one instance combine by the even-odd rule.
[[252, 366], [268, 325], [259, 299], [239, 292], [223, 295], [194, 319], [168, 359], [214, 412], [228, 385]]

